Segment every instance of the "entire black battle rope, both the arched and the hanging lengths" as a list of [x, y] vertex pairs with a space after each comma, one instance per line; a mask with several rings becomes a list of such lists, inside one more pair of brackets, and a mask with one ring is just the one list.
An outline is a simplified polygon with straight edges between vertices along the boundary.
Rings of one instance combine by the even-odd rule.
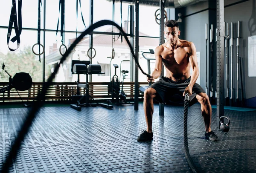
[[[50, 75], [50, 77], [48, 78], [47, 82], [43, 84], [41, 92], [38, 93], [38, 97], [37, 97], [36, 101], [33, 103], [33, 106], [31, 108], [31, 110], [29, 111], [29, 115], [27, 116], [26, 120], [22, 124], [22, 126], [20, 128], [20, 132], [18, 133], [17, 138], [15, 139], [15, 142], [12, 146], [12, 149], [8, 153], [8, 156], [6, 157], [6, 160], [4, 161], [4, 164], [3, 164], [3, 167], [2, 167], [2, 172], [3, 173], [8, 172], [9, 167], [12, 165], [12, 160], [15, 160], [15, 158], [17, 156], [17, 151], [20, 150], [20, 144], [23, 141], [24, 136], [28, 132], [28, 130], [29, 130], [34, 118], [35, 118], [36, 113], [38, 112], [39, 108], [43, 104], [43, 102], [45, 100], [45, 95], [46, 95], [47, 89], [51, 85], [52, 80], [55, 78], [55, 75], [58, 73], [58, 69], [59, 69], [60, 65], [66, 60], [67, 56], [70, 55], [71, 51], [76, 47], [76, 45], [83, 39], [83, 37], [85, 35], [88, 35], [94, 29], [99, 28], [101, 26], [105, 26], [105, 25], [112, 25], [112, 26], [115, 26], [117, 29], [119, 29], [121, 34], [125, 37], [125, 40], [126, 40], [128, 46], [129, 46], [129, 48], [131, 49], [131, 54], [133, 55], [134, 61], [135, 61], [136, 65], [138, 66], [138, 68], [140, 69], [140, 71], [144, 75], [146, 75], [148, 78], [152, 78], [151, 75], [145, 73], [143, 71], [143, 69], [141, 68], [141, 66], [140, 66], [140, 64], [137, 60], [137, 57], [134, 53], [134, 50], [131, 46], [131, 43], [128, 40], [127, 35], [125, 34], [125, 32], [122, 30], [122, 28], [120, 26], [118, 26], [116, 23], [114, 23], [111, 20], [100, 20], [99, 22], [96, 22], [96, 23], [92, 24], [91, 26], [88, 27], [88, 29], [86, 29], [84, 32], [82, 32], [82, 34], [73, 42], [73, 44], [70, 45], [70, 47], [67, 49], [67, 51], [62, 56], [62, 58], [60, 60], [60, 63], [58, 63], [58, 65], [55, 66], [55, 69], [54, 69], [53, 73]], [[195, 164], [192, 161], [192, 158], [189, 155], [189, 149], [188, 149], [188, 141], [187, 141], [188, 105], [189, 105], [189, 95], [188, 95], [188, 93], [186, 93], [186, 95], [185, 95], [185, 105], [184, 105], [184, 148], [185, 148], [185, 155], [186, 155], [186, 159], [189, 163], [189, 166], [191, 167], [193, 172], [198, 172], [196, 170]]]

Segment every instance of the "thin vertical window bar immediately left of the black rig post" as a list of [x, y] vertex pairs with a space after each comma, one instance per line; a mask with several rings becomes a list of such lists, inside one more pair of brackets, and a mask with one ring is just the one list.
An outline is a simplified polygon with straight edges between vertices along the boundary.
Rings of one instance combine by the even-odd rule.
[[[130, 6], [130, 42], [134, 49], [134, 6]], [[130, 58], [130, 81], [134, 82], [134, 59], [131, 55]]]

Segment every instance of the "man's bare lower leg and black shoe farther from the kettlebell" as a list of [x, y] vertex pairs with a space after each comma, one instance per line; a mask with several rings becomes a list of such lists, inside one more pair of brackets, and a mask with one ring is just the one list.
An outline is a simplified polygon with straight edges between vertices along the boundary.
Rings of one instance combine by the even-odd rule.
[[147, 130], [137, 138], [137, 141], [151, 141], [153, 139], [152, 133], [152, 116], [154, 112], [153, 98], [156, 96], [156, 90], [148, 88], [144, 92], [143, 108], [145, 112], [145, 119], [147, 123]]

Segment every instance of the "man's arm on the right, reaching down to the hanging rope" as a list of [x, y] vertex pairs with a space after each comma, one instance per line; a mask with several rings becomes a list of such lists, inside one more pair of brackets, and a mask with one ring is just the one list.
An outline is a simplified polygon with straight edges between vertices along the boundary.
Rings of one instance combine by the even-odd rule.
[[197, 62], [197, 55], [196, 55], [196, 49], [194, 43], [191, 42], [191, 52], [189, 57], [189, 64], [190, 68], [192, 68], [192, 74], [190, 74], [191, 79], [190, 83], [185, 89], [183, 96], [185, 96], [185, 92], [189, 92], [189, 95], [192, 95], [192, 88], [199, 76], [199, 68], [198, 68], [198, 62]]

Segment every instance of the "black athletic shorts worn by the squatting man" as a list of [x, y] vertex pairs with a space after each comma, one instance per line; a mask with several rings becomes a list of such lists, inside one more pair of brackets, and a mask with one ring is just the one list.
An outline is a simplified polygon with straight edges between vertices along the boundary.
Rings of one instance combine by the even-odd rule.
[[[176, 82], [172, 81], [170, 78], [162, 76], [159, 81], [156, 81], [154, 84], [149, 86], [149, 88], [154, 88], [157, 91], [155, 100], [163, 103], [168, 102], [173, 95], [180, 95], [180, 98], [184, 98], [183, 92], [189, 85], [189, 82], [190, 77], [186, 80]], [[195, 83], [192, 88], [192, 95], [189, 96], [189, 101], [192, 101], [195, 96], [201, 92], [205, 93], [204, 89], [199, 84]]]

